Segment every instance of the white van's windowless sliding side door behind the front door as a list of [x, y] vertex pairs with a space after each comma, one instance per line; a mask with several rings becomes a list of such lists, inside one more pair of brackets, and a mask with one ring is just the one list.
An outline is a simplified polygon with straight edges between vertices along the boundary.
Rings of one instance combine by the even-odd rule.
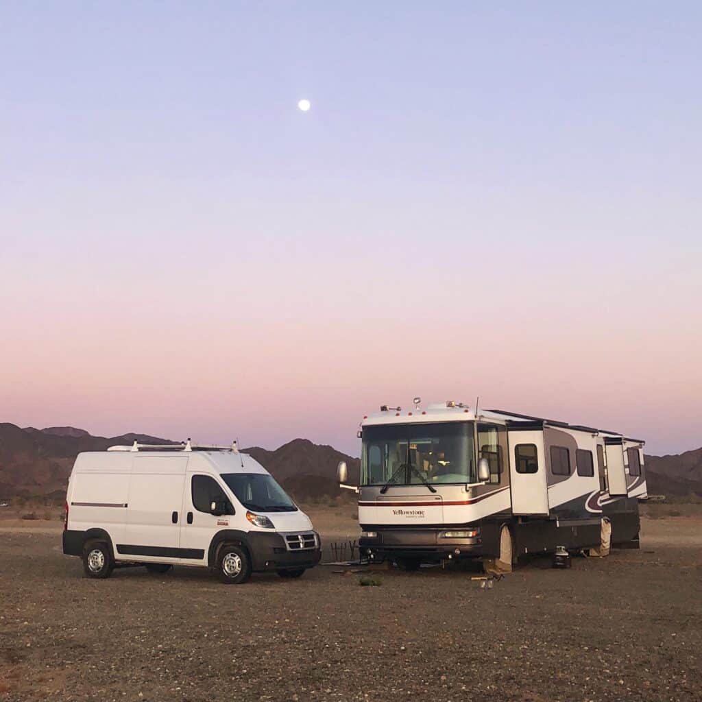
[[185, 456], [135, 456], [124, 543], [117, 557], [144, 562], [180, 558]]

